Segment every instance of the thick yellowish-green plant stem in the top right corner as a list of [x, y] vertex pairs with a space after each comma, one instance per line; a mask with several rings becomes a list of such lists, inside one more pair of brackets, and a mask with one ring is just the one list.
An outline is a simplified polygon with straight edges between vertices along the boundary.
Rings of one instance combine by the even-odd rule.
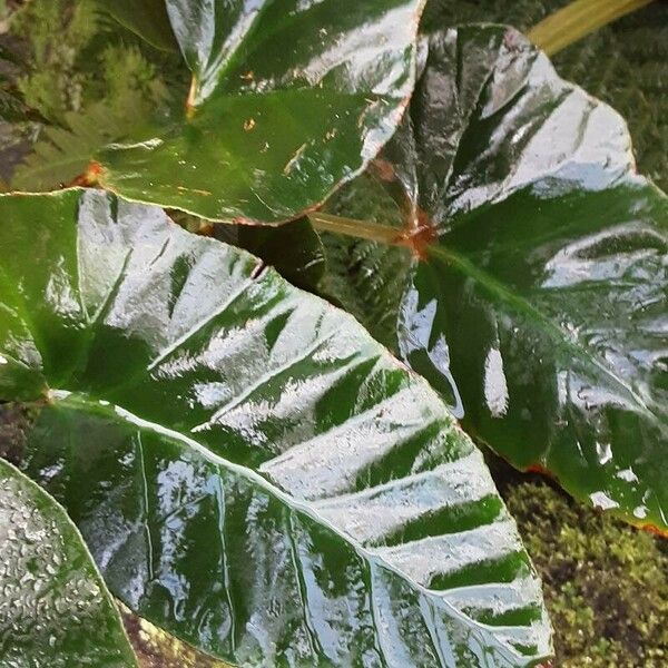
[[553, 56], [590, 32], [654, 0], [574, 0], [543, 19], [528, 33], [548, 56]]

